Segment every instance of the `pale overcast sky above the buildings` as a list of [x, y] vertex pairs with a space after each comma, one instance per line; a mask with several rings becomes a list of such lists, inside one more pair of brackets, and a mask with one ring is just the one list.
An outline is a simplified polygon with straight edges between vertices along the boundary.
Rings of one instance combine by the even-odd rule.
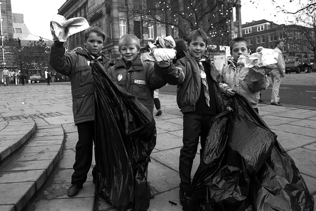
[[[269, 3], [271, 0], [256, 0], [257, 3], [249, 3], [249, 0], [241, 0], [241, 21], [242, 24], [253, 20], [266, 19], [277, 24], [285, 23], [287, 19], [285, 15]], [[285, 0], [281, 0], [284, 2]], [[295, 1], [286, 4], [287, 7], [295, 8]], [[49, 22], [58, 9], [66, 2], [66, 0], [11, 0], [12, 12], [24, 14], [24, 23], [29, 28], [31, 34], [46, 39], [52, 39], [50, 34]], [[297, 6], [296, 6], [297, 7]], [[276, 15], [276, 16], [275, 16]]]

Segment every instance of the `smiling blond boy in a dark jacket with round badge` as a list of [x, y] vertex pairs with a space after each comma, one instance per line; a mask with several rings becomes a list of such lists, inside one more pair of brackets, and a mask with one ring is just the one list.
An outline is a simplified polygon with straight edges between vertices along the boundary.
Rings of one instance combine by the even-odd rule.
[[[135, 35], [122, 36], [118, 41], [121, 59], [110, 68], [110, 75], [125, 91], [136, 96], [152, 114], [154, 90], [164, 86], [168, 80], [178, 78], [179, 71], [160, 71], [152, 64], [142, 62], [138, 55], [140, 49], [139, 39]], [[152, 188], [150, 192], [153, 198], [155, 193]]]

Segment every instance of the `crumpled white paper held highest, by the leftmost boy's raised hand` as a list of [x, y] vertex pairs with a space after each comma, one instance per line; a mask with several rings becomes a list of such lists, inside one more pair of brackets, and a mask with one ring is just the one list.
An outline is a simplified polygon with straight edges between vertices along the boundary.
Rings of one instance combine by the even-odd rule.
[[54, 15], [51, 21], [55, 36], [60, 42], [66, 42], [67, 38], [89, 27], [88, 21], [83, 17], [65, 19], [62, 15]]

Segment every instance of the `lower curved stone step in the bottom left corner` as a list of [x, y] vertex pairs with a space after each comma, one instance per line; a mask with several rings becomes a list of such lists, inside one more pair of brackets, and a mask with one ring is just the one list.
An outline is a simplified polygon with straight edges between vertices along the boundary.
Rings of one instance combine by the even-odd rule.
[[[1, 142], [3, 129], [0, 131]], [[1, 160], [1, 211], [24, 209], [59, 162], [64, 140], [61, 125], [36, 127], [31, 138], [13, 154]]]

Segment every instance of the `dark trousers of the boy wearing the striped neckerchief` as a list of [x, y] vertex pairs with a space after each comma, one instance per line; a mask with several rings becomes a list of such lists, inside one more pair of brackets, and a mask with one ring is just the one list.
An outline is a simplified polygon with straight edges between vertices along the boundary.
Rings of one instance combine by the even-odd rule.
[[202, 153], [213, 117], [213, 115], [199, 114], [183, 115], [183, 147], [180, 150], [179, 162], [180, 190], [187, 191], [190, 187], [191, 170], [197, 154], [198, 139], [200, 137], [202, 148], [200, 153]]

